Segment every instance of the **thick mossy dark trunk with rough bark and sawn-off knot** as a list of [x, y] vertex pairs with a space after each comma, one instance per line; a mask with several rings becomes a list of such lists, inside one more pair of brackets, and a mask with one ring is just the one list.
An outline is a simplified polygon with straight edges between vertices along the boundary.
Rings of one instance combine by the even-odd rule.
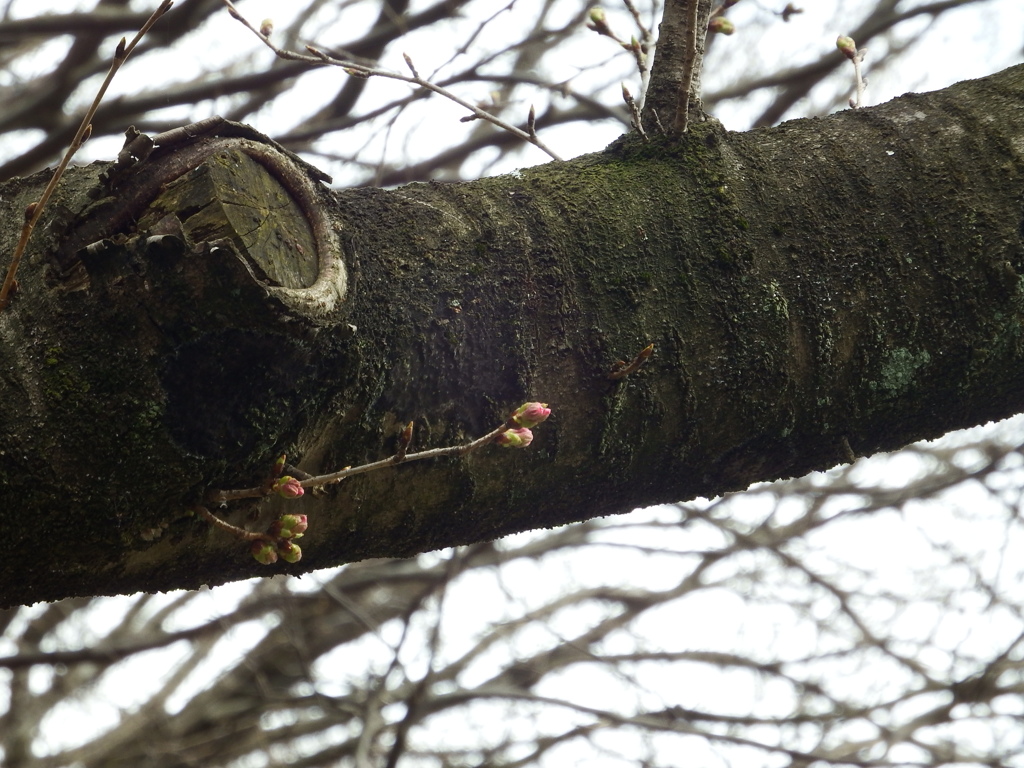
[[[412, 555], [1014, 414], [1022, 103], [1017, 67], [396, 190], [308, 191], [306, 169], [274, 170], [232, 127], [80, 169], [0, 314], [0, 603]], [[198, 191], [147, 213], [175, 176]], [[3, 252], [44, 181], [0, 189]], [[287, 206], [291, 229], [259, 226]], [[643, 368], [607, 378], [648, 343]], [[554, 409], [528, 450], [221, 511], [309, 514], [298, 564], [260, 566], [183, 514], [281, 452], [330, 471], [388, 456], [409, 420], [414, 449], [452, 444], [526, 399]]]

